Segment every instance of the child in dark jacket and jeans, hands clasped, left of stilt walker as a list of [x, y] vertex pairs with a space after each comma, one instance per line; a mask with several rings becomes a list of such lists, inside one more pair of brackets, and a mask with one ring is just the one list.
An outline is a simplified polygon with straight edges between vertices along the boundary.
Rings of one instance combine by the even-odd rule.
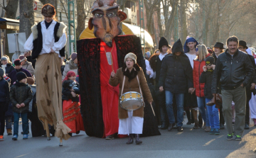
[[21, 115], [23, 140], [28, 139], [28, 105], [32, 99], [31, 87], [26, 84], [27, 76], [24, 72], [16, 74], [16, 83], [11, 86], [10, 99], [13, 104], [14, 111], [14, 137], [18, 138], [18, 120]]

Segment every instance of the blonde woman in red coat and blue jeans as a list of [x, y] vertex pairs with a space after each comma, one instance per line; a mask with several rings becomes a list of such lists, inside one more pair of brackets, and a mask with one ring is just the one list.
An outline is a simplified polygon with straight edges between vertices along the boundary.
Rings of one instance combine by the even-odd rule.
[[[196, 98], [198, 102], [198, 108], [204, 121], [203, 129], [206, 129], [206, 132], [210, 132], [210, 123], [209, 123], [208, 115], [206, 113], [206, 98], [204, 97], [204, 93], [203, 93], [204, 84], [199, 83], [199, 78], [203, 72], [203, 66], [206, 65], [205, 59], [210, 55], [208, 54], [206, 45], [198, 45], [196, 55], [197, 57], [193, 63], [193, 86], [196, 89]], [[195, 114], [196, 112], [193, 113], [193, 115]], [[195, 117], [195, 119], [197, 118]]]

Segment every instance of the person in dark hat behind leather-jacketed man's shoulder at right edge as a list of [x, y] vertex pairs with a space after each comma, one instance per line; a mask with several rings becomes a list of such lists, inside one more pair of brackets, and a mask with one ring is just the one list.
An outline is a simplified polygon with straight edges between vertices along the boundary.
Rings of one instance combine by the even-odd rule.
[[[246, 42], [244, 40], [240, 40], [239, 41], [239, 46], [238, 49], [241, 50], [242, 52], [246, 52], [247, 53], [247, 45]], [[252, 62], [252, 66], [255, 69], [255, 59], [254, 57], [252, 57], [252, 55], [249, 55], [247, 53], [248, 57], [250, 58], [251, 62]], [[246, 113], [245, 113], [245, 130], [249, 130], [249, 124], [250, 124], [250, 108], [249, 108], [249, 101], [252, 98], [252, 90], [255, 89], [255, 83], [256, 83], [256, 77], [254, 75], [251, 84], [248, 84], [246, 86]]]

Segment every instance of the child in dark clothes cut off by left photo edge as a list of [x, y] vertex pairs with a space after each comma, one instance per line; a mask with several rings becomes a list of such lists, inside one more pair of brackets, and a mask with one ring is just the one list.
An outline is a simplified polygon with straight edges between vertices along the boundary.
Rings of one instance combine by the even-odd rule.
[[0, 67], [0, 141], [4, 140], [4, 116], [9, 105], [10, 86], [4, 79], [4, 69]]

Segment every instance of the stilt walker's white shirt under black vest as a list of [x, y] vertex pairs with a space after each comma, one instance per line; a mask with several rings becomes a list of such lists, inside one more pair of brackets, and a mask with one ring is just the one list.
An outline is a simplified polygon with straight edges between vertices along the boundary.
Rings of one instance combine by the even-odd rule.
[[[60, 37], [58, 42], [55, 43], [53, 33], [54, 33], [54, 27], [56, 23], [57, 22], [53, 20], [53, 22], [50, 23], [50, 26], [46, 29], [45, 21], [41, 22], [41, 30], [43, 35], [43, 49], [41, 50], [41, 53], [39, 55], [50, 53], [50, 48], [53, 48], [55, 53], [57, 53], [58, 56], [60, 57], [60, 50], [65, 46], [65, 43], [67, 42], [67, 38], [66, 38], [65, 32], [63, 32], [63, 35]], [[27, 52], [33, 50], [33, 33], [31, 33], [28, 40], [26, 40], [26, 43], [24, 44], [24, 49]]]

